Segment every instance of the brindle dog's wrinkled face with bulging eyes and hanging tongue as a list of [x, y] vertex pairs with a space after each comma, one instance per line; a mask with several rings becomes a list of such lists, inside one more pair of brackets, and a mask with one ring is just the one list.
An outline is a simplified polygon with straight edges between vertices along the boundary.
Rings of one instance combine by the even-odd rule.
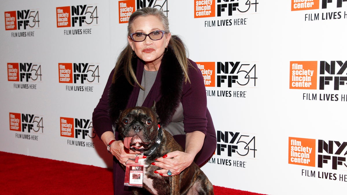
[[158, 135], [159, 121], [152, 109], [133, 107], [120, 113], [117, 122], [118, 131], [123, 139], [132, 137], [130, 149], [143, 152], [154, 144], [154, 140]]

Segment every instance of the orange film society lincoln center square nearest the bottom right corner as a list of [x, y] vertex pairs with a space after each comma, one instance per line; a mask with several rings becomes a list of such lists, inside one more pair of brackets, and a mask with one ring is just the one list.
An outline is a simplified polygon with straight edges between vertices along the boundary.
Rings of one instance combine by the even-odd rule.
[[288, 163], [314, 167], [316, 164], [316, 140], [289, 137]]

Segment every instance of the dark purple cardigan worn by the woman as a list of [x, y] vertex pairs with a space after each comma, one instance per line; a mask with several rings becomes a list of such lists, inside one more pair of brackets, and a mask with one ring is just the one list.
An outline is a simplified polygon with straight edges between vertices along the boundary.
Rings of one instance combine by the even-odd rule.
[[[206, 106], [206, 91], [205, 91], [202, 73], [201, 71], [199, 71], [200, 69], [198, 69], [195, 62], [191, 61], [191, 63], [193, 65], [193, 68], [191, 67], [188, 72], [191, 83], [187, 82], [183, 84], [181, 103], [184, 110], [183, 114], [184, 114], [185, 132], [190, 133], [190, 132], [194, 132], [198, 130], [203, 132], [206, 135], [203, 148], [197, 154], [196, 160], [195, 160], [195, 162], [198, 165], [201, 165], [201, 164], [204, 164], [204, 162], [213, 154], [215, 147], [217, 145], [217, 139], [215, 135], [212, 118]], [[143, 63], [138, 60], [137, 77], [138, 77], [138, 80], [140, 81], [141, 81], [141, 78], [139, 77], [139, 75], [141, 75], [142, 77], [143, 68], [144, 68]], [[101, 99], [93, 112], [93, 127], [96, 134], [98, 134], [99, 137], [101, 137], [101, 135], [104, 132], [107, 132], [107, 131], [113, 132], [112, 121], [108, 115], [108, 108], [109, 108], [108, 93], [109, 93], [109, 87], [112, 83], [113, 74], [114, 74], [114, 69], [111, 71], [111, 74], [108, 78], [108, 81], [105, 86], [104, 92], [101, 96]], [[158, 73], [158, 75], [159, 74], [160, 72]], [[158, 83], [157, 79], [155, 82]], [[154, 88], [154, 90], [155, 88], [159, 88], [159, 87], [155, 87], [155, 85], [156, 84], [154, 84], [152, 87]], [[133, 102], [133, 103], [128, 102], [127, 107], [132, 107], [132, 106], [135, 106], [136, 104], [135, 100], [137, 100], [138, 90], [136, 92], [136, 88], [134, 87], [134, 91], [132, 92], [132, 95], [130, 96], [130, 100], [129, 100], [129, 102]], [[153, 97], [146, 98], [143, 106], [150, 107], [153, 100], [158, 101], [158, 98], [160, 98], [160, 96], [158, 97], [156, 95], [153, 95], [156, 93], [150, 93], [149, 96], [151, 94]], [[117, 135], [118, 135], [118, 132], [116, 132], [116, 139], [118, 139]], [[185, 135], [176, 135], [174, 136], [174, 138], [183, 148], [185, 148]], [[202, 159], [200, 159], [199, 156]]]

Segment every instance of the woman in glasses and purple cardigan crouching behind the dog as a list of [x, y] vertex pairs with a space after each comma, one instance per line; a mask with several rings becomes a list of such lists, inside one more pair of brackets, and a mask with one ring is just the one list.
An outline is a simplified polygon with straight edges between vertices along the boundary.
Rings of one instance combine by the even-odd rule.
[[120, 110], [151, 107], [153, 101], [157, 102], [161, 125], [185, 148], [185, 152], [174, 151], [157, 159], [155, 166], [162, 169], [156, 173], [161, 176], [177, 175], [193, 161], [201, 166], [217, 144], [201, 71], [187, 59], [181, 40], [171, 36], [168, 18], [148, 7], [136, 10], [128, 25], [129, 44], [121, 52], [93, 112], [94, 129], [115, 156], [116, 194], [130, 193], [124, 187], [125, 172], [119, 163], [125, 165], [128, 159], [135, 159], [135, 152], [125, 149], [119, 140], [117, 129], [113, 134], [112, 125]]

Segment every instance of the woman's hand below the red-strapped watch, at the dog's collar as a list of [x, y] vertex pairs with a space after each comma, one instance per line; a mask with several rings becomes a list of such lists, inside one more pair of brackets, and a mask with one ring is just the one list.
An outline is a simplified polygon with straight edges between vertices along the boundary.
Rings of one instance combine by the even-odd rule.
[[[124, 143], [123, 141], [115, 141], [111, 144], [111, 149], [110, 149], [111, 153], [113, 156], [116, 156], [117, 160], [124, 164], [124, 166], [126, 166], [126, 162], [129, 159], [135, 159], [135, 155], [136, 154], [141, 154], [141, 152], [134, 152], [132, 150], [127, 149], [126, 147], [124, 147]], [[138, 157], [141, 158], [146, 158], [146, 156], [144, 155], [138, 155]]]

